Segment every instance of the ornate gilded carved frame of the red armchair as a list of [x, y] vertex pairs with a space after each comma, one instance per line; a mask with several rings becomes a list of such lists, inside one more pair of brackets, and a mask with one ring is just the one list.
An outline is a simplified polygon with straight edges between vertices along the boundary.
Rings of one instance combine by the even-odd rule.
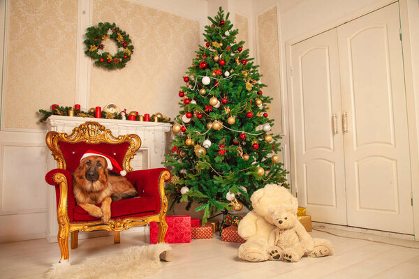
[[[140, 148], [141, 140], [138, 135], [119, 135], [114, 137], [109, 129], [102, 126], [95, 121], [87, 121], [80, 126], [73, 129], [73, 133], [68, 135], [66, 133], [58, 133], [51, 131], [47, 133], [46, 143], [48, 148], [52, 151], [54, 160], [57, 160], [58, 169], [66, 169], [66, 160], [64, 160], [63, 152], [59, 147], [59, 142], [78, 143], [85, 142], [87, 144], [98, 144], [101, 142], [109, 144], [120, 144], [128, 142], [128, 150], [124, 156], [123, 168], [126, 172], [132, 172], [130, 161], [135, 156], [135, 152]], [[166, 198], [164, 183], [170, 179], [170, 172], [167, 170], [161, 172], [159, 176], [159, 193], [161, 209], [159, 214], [142, 217], [142, 218], [124, 218], [123, 220], [111, 219], [108, 224], [101, 221], [91, 221], [85, 223], [71, 223], [67, 213], [67, 199], [68, 199], [68, 179], [66, 174], [56, 172], [52, 177], [53, 181], [58, 184], [60, 195], [57, 206], [57, 220], [58, 220], [58, 243], [61, 251], [60, 262], [68, 260], [68, 236], [71, 234], [71, 248], [78, 246], [78, 232], [91, 232], [96, 230], [107, 230], [114, 232], [114, 241], [119, 243], [119, 232], [124, 229], [129, 229], [133, 226], [149, 225], [150, 222], [156, 222], [159, 225], [159, 243], [164, 243], [164, 237], [168, 229], [166, 224], [166, 213], [168, 211], [168, 200]]]

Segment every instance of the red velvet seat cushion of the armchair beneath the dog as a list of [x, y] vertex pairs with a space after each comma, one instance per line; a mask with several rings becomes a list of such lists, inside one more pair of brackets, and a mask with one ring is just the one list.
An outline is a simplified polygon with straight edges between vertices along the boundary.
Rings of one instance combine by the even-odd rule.
[[[101, 206], [100, 204], [98, 206]], [[122, 219], [124, 217], [143, 217], [159, 213], [156, 209], [156, 197], [133, 197], [123, 199], [110, 204], [111, 218]], [[70, 216], [70, 214], [68, 214]], [[99, 220], [90, 216], [81, 206], [74, 207], [73, 220], [70, 222]]]

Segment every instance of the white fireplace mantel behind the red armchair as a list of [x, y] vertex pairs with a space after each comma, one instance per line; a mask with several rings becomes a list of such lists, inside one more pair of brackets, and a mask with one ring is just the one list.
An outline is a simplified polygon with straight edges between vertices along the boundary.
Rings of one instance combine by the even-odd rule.
[[[112, 131], [112, 135], [135, 134], [140, 136], [141, 146], [135, 157], [131, 160], [131, 167], [138, 169], [151, 169], [163, 167], [161, 163], [164, 160], [164, 154], [167, 146], [167, 134], [170, 131], [170, 123], [130, 121], [120, 119], [96, 119], [76, 116], [58, 116], [48, 117], [47, 132], [56, 131], [59, 133], [71, 134], [73, 128], [78, 127], [86, 121], [96, 121]], [[46, 148], [46, 147], [45, 147]], [[57, 162], [52, 158], [51, 152], [47, 151], [47, 171], [57, 167]], [[57, 203], [55, 199], [55, 190], [51, 187], [48, 191], [48, 231], [47, 239], [50, 242], [57, 242]]]

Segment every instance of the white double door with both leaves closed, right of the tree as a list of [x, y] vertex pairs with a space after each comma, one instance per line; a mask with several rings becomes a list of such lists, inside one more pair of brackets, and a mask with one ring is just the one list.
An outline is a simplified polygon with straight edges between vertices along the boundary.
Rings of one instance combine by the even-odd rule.
[[413, 234], [397, 3], [291, 46], [298, 199], [314, 221]]

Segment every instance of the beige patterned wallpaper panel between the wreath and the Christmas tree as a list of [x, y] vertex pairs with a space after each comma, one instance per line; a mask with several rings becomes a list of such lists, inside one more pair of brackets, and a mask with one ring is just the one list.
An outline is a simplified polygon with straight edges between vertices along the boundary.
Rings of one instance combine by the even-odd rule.
[[179, 86], [198, 50], [199, 22], [135, 4], [94, 0], [93, 23], [115, 22], [133, 41], [125, 68], [91, 67], [90, 107], [115, 103], [140, 114], [179, 112]]

